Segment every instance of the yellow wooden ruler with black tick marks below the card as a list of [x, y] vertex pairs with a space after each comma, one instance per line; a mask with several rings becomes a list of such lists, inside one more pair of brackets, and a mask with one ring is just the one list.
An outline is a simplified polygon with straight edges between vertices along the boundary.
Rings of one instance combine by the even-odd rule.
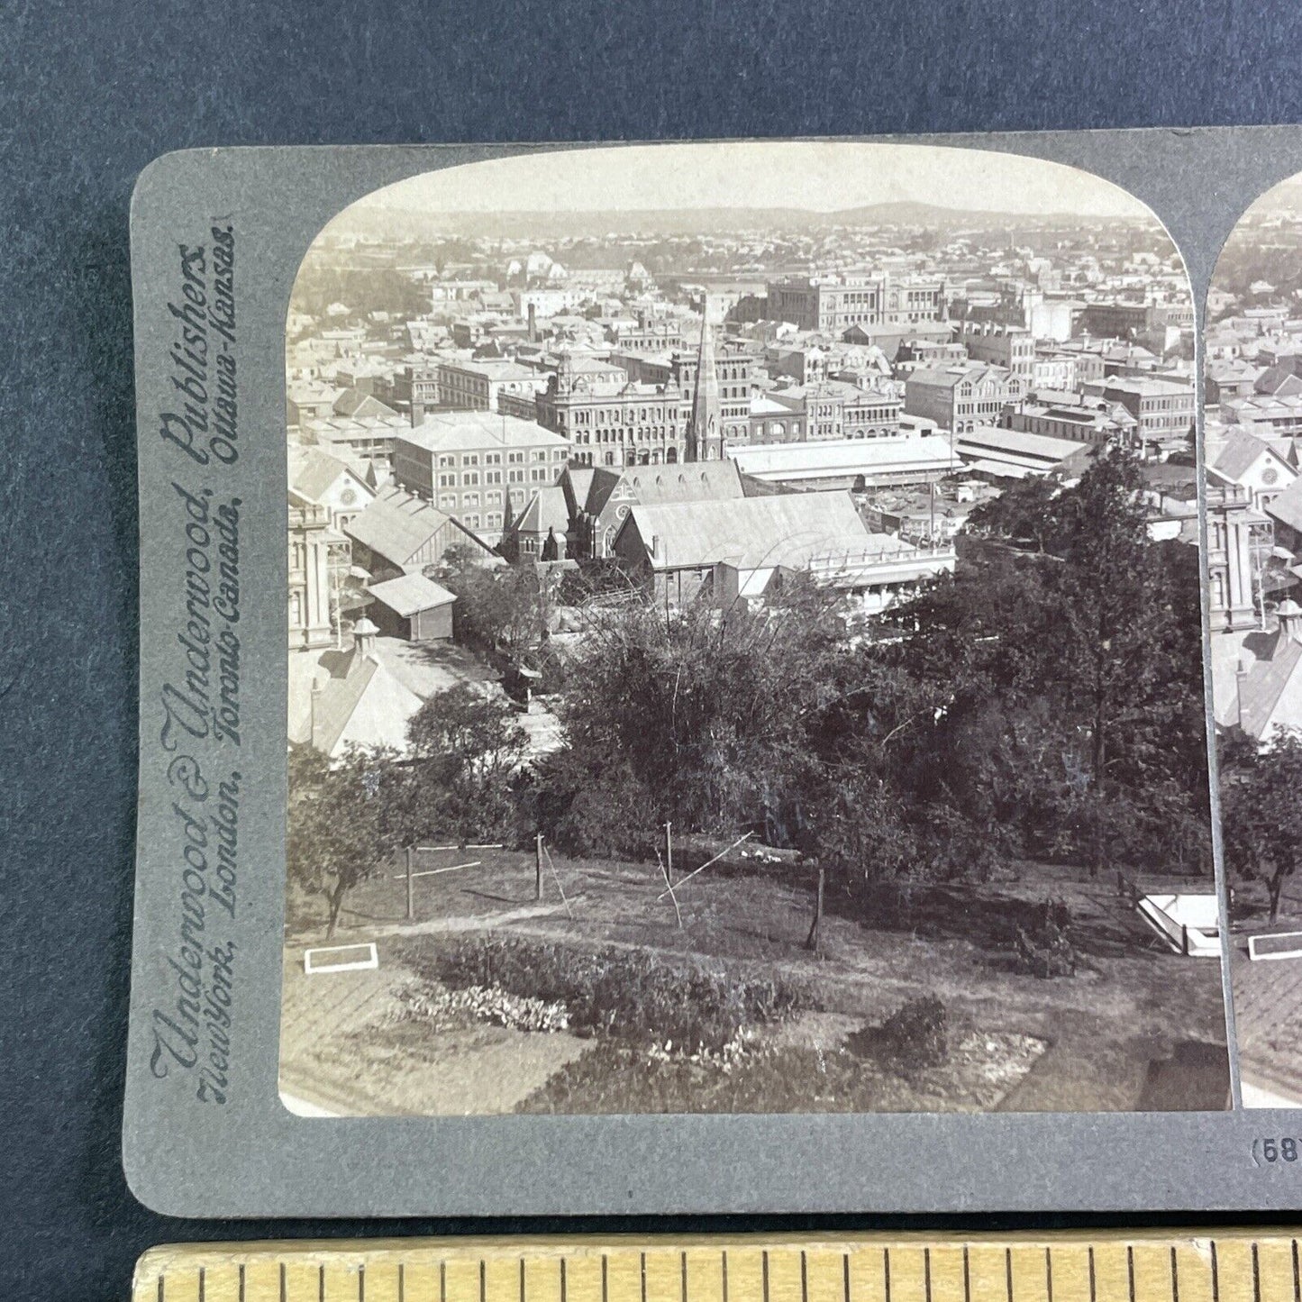
[[134, 1302], [1302, 1302], [1288, 1232], [410, 1238], [146, 1253]]

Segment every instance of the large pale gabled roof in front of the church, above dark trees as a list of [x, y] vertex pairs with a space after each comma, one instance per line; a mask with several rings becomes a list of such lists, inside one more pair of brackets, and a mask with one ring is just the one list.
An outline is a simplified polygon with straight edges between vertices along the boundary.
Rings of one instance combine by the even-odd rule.
[[[885, 546], [871, 534], [848, 492], [780, 493], [740, 501], [637, 505], [616, 539], [634, 531], [652, 568], [699, 569], [728, 561], [738, 568], [803, 568], [815, 556], [862, 555]], [[659, 555], [652, 557], [652, 539]]]

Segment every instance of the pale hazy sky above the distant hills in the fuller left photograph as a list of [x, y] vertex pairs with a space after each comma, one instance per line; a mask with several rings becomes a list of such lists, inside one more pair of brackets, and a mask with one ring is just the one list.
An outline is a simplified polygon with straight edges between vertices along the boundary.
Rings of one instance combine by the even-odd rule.
[[353, 207], [430, 214], [715, 207], [827, 212], [900, 199], [1027, 215], [1151, 216], [1111, 181], [1060, 163], [983, 150], [822, 141], [650, 145], [493, 159], [400, 181]]

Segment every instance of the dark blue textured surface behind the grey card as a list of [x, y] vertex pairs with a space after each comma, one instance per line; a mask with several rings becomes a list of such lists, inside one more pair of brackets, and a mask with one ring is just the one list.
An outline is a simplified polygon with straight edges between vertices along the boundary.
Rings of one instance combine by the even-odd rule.
[[137, 1254], [168, 1240], [367, 1230], [167, 1221], [122, 1181], [137, 639], [126, 224], [150, 159], [197, 145], [1289, 122], [1302, 121], [1299, 53], [1297, 0], [0, 4], [9, 1295], [125, 1298]]

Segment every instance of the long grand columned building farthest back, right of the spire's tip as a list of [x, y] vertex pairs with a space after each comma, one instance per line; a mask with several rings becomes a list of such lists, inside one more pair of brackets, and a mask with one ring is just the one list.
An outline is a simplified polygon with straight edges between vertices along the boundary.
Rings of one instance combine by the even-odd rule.
[[940, 280], [894, 280], [888, 272], [842, 272], [771, 281], [768, 315], [799, 329], [840, 335], [852, 326], [907, 326], [945, 315]]

